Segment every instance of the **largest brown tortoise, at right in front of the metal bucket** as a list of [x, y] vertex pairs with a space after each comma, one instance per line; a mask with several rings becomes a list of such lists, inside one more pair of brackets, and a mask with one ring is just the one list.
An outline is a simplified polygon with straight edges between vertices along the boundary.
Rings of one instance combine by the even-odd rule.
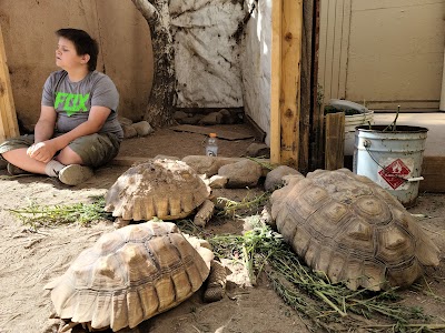
[[387, 191], [347, 169], [288, 178], [270, 198], [271, 218], [294, 251], [352, 290], [407, 286], [438, 249]]

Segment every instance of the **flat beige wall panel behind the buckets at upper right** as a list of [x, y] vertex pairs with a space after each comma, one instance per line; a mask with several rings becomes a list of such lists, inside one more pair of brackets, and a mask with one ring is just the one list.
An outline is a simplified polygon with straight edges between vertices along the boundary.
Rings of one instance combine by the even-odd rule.
[[445, 0], [322, 0], [325, 101], [438, 110]]

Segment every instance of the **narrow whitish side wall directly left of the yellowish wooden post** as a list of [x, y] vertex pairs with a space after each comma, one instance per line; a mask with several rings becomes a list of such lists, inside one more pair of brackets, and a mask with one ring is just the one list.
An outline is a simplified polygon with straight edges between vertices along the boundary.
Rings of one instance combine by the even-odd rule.
[[270, 52], [271, 52], [271, 0], [246, 1], [246, 10], [253, 6], [246, 27], [241, 57], [245, 113], [266, 132], [270, 143]]

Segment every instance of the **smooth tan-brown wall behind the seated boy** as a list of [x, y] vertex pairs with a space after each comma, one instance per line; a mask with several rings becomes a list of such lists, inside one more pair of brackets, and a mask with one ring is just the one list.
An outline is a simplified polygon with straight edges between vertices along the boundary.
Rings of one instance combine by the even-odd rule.
[[55, 64], [60, 28], [89, 32], [99, 43], [98, 71], [120, 93], [119, 113], [140, 120], [152, 82], [149, 27], [129, 0], [0, 0], [0, 24], [18, 118], [32, 125], [41, 90]]

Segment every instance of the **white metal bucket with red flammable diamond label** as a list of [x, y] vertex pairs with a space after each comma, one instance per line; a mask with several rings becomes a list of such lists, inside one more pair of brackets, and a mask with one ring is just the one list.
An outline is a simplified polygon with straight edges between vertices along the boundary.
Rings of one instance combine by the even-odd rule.
[[[416, 203], [428, 129], [397, 125], [357, 127], [354, 165], [356, 174], [366, 175], [388, 190], [406, 208]], [[384, 131], [385, 130], [385, 131]]]

